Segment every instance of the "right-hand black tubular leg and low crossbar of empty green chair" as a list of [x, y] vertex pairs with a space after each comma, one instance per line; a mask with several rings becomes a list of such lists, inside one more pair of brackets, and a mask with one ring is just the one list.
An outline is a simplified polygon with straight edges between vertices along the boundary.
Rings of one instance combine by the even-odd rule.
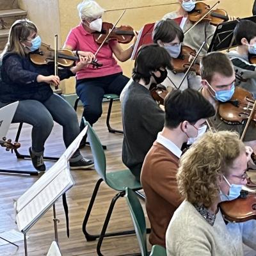
[[106, 216], [106, 219], [104, 221], [104, 225], [102, 227], [100, 236], [99, 236], [99, 241], [97, 243], [97, 253], [99, 256], [103, 256], [102, 253], [100, 252], [100, 248], [102, 245], [102, 241], [104, 239], [104, 237], [110, 237], [110, 236], [124, 236], [124, 235], [130, 235], [130, 234], [135, 234], [135, 230], [126, 230], [126, 231], [122, 231], [122, 232], [112, 232], [112, 233], [107, 233], [106, 234], [106, 230], [108, 228], [108, 223], [111, 217], [111, 214], [113, 212], [116, 200], [118, 200], [118, 198], [120, 197], [124, 197], [125, 195], [125, 191], [121, 191], [118, 194], [116, 194], [113, 199], [111, 200], [111, 204], [109, 205], [109, 209], [108, 209], [108, 214]]

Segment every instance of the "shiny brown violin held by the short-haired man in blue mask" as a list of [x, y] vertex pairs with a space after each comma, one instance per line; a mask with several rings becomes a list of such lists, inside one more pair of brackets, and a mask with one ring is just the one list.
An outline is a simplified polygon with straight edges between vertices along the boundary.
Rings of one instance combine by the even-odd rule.
[[[250, 92], [236, 86], [232, 98], [227, 102], [220, 102], [218, 112], [221, 120], [227, 124], [243, 124], [249, 118], [254, 102]], [[252, 120], [256, 122], [255, 113]]]

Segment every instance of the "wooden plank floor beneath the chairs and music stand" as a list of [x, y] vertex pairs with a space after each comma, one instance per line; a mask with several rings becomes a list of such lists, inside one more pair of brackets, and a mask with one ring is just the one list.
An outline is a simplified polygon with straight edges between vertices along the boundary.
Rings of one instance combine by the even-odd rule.
[[[125, 168], [122, 164], [122, 134], [111, 134], [106, 127], [106, 113], [108, 103], [103, 104], [104, 113], [100, 120], [93, 126], [97, 132], [102, 144], [107, 145], [106, 150], [107, 169], [115, 171]], [[79, 118], [81, 117], [82, 109], [77, 110]], [[120, 116], [120, 102], [114, 102], [111, 114], [111, 125], [116, 129], [122, 129], [122, 120]], [[8, 138], [15, 138], [17, 125], [13, 124]], [[31, 127], [26, 125], [22, 129], [20, 143], [22, 147], [20, 152], [28, 154], [30, 145]], [[0, 148], [0, 168], [33, 170], [30, 159], [17, 160], [14, 154], [5, 152], [4, 148]], [[51, 136], [48, 138], [45, 146], [45, 156], [60, 156], [65, 150], [61, 127], [58, 124], [54, 125]], [[84, 156], [92, 157], [90, 148], [81, 150]], [[46, 165], [49, 168], [54, 162], [47, 161]], [[97, 255], [97, 241], [87, 242], [84, 239], [82, 232], [82, 223], [84, 212], [87, 209], [88, 202], [92, 195], [95, 182], [99, 178], [95, 170], [76, 170], [72, 171], [72, 176], [76, 182], [75, 186], [67, 193], [69, 218], [70, 218], [70, 237], [66, 236], [65, 229], [65, 214], [58, 200], [56, 204], [57, 216], [60, 219], [58, 224], [59, 243], [62, 255]], [[13, 211], [13, 200], [19, 198], [38, 177], [29, 175], [10, 175], [0, 173], [0, 232], [17, 228], [15, 225], [15, 215]], [[91, 218], [89, 220], [88, 230], [93, 234], [99, 233], [102, 228], [102, 223], [106, 216], [106, 211], [111, 198], [115, 195], [115, 191], [102, 184], [99, 191], [99, 196], [95, 202]], [[148, 220], [147, 220], [147, 226]], [[133, 228], [131, 216], [128, 211], [124, 198], [121, 198], [116, 203], [113, 216], [109, 223], [108, 230], [127, 230]], [[46, 255], [51, 242], [54, 240], [54, 228], [52, 222], [52, 209], [31, 228], [28, 233], [28, 255]], [[0, 255], [24, 255], [24, 246], [22, 242], [17, 250], [15, 246], [4, 245], [0, 246]], [[150, 246], [148, 245], [148, 250]], [[104, 239], [102, 244], [102, 253], [104, 255], [122, 255], [125, 253], [140, 252], [138, 241], [135, 235], [123, 236], [118, 238], [109, 237]]]

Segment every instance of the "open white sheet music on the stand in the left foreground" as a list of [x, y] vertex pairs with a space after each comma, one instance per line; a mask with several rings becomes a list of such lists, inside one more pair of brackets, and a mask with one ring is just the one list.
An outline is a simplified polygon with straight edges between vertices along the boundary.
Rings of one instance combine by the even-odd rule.
[[87, 127], [81, 131], [50, 170], [36, 180], [15, 202], [16, 221], [20, 231], [26, 232], [65, 191], [74, 185], [68, 159], [79, 147], [86, 131]]

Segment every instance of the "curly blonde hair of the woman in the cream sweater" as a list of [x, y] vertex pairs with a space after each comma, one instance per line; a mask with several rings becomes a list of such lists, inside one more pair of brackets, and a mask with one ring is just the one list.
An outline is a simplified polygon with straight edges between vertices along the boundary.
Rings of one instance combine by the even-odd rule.
[[228, 177], [241, 152], [245, 148], [236, 132], [206, 132], [180, 159], [176, 176], [180, 194], [191, 204], [210, 207], [220, 193], [220, 175]]

